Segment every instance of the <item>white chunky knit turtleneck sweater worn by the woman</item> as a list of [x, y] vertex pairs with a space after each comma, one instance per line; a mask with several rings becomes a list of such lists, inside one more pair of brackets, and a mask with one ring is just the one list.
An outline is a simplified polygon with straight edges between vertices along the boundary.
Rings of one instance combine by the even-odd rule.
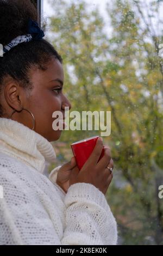
[[55, 151], [41, 135], [0, 118], [1, 245], [116, 245], [117, 226], [104, 194], [92, 184], [65, 193], [45, 163]]

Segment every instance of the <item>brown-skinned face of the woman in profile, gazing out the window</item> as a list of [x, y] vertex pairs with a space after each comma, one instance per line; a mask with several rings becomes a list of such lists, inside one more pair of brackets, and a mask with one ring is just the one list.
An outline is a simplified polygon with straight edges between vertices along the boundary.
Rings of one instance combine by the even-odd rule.
[[[21, 105], [33, 113], [35, 117], [34, 130], [49, 142], [57, 141], [61, 136], [61, 130], [53, 130], [52, 123], [56, 118], [52, 118], [52, 114], [54, 111], [61, 111], [64, 117], [65, 107], [71, 109], [71, 103], [62, 92], [62, 85], [64, 84], [62, 64], [53, 58], [46, 71], [37, 69], [31, 71], [30, 74], [34, 88], [30, 92], [30, 97], [25, 97], [22, 89], [19, 88]], [[14, 95], [12, 96], [14, 97]], [[12, 111], [10, 110], [10, 113]], [[27, 111], [14, 113], [12, 120], [16, 120], [30, 129], [33, 127], [32, 116]]]

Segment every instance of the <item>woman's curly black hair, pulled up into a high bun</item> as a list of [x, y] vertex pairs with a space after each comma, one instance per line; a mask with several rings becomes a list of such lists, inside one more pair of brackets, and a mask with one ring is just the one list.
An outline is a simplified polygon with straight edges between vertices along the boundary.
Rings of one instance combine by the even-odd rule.
[[[5, 46], [17, 36], [27, 34], [29, 18], [37, 21], [37, 10], [30, 0], [0, 0], [0, 44]], [[41, 29], [45, 32], [45, 24]], [[62, 63], [59, 53], [45, 39], [23, 42], [11, 48], [0, 57], [0, 93], [6, 77], [14, 78], [24, 89], [32, 90], [30, 70], [46, 70], [52, 58]], [[0, 102], [0, 117], [2, 115]]]

